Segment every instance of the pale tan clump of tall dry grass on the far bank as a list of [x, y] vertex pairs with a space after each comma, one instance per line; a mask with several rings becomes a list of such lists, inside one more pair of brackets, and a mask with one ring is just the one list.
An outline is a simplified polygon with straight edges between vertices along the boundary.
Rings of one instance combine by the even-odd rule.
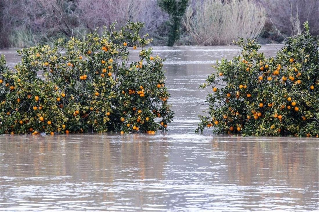
[[238, 37], [256, 38], [266, 12], [254, 1], [197, 1], [189, 7], [184, 26], [195, 45], [227, 45]]

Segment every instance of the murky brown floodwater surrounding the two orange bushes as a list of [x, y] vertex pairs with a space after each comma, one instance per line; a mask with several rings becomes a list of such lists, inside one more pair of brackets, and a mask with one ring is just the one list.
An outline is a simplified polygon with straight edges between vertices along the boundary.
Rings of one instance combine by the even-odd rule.
[[[0, 53], [11, 67], [19, 61]], [[318, 139], [194, 133], [206, 107], [198, 85], [216, 60], [238, 53], [154, 48], [167, 58], [175, 112], [166, 133], [0, 135], [0, 210], [318, 211]]]

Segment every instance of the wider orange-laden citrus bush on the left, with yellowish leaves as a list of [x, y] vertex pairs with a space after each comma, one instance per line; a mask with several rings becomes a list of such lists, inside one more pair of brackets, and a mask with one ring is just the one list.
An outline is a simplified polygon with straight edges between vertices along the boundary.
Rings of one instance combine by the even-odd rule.
[[[163, 60], [145, 49], [151, 39], [139, 35], [142, 27], [114, 24], [101, 37], [22, 49], [15, 73], [2, 56], [0, 133], [166, 130], [173, 112]], [[130, 62], [128, 46], [141, 47], [139, 61]]]

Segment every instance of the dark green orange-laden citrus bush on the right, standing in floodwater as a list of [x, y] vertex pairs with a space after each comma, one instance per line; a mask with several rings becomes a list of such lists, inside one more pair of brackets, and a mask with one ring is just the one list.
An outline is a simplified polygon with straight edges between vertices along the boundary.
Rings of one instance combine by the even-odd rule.
[[240, 39], [241, 55], [222, 59], [200, 86], [213, 85], [213, 92], [196, 131], [214, 126], [218, 133], [318, 136], [318, 38], [308, 23], [305, 29], [271, 58], [257, 52], [254, 40]]

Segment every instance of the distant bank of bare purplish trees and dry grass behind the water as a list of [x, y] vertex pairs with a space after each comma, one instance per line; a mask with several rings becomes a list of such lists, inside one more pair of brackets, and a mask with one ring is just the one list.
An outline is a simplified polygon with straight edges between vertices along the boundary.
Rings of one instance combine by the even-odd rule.
[[238, 37], [282, 42], [309, 22], [318, 35], [317, 0], [1, 0], [0, 48], [83, 37], [126, 20], [145, 23], [152, 45], [229, 45]]

